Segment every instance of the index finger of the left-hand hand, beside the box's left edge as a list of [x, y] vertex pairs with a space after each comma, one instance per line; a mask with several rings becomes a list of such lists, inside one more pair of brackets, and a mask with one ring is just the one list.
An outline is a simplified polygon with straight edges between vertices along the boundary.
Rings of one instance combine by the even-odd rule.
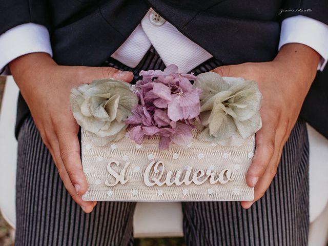
[[[63, 121], [64, 122], [64, 121]], [[60, 158], [72, 185], [78, 195], [83, 195], [88, 189], [87, 179], [82, 169], [80, 145], [77, 138], [78, 125], [73, 123], [61, 124], [55, 131], [59, 142]]]

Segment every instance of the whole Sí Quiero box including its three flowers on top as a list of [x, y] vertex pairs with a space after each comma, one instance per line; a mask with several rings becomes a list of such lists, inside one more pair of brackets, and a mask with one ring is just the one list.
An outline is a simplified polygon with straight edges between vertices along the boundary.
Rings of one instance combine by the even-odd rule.
[[245, 177], [262, 126], [257, 83], [180, 74], [175, 65], [140, 75], [135, 86], [110, 78], [71, 90], [88, 181], [83, 199], [253, 200]]

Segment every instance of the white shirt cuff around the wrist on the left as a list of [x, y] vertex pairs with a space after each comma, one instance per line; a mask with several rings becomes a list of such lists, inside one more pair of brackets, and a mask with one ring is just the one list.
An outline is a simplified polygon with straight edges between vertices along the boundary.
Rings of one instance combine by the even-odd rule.
[[9, 29], [0, 35], [0, 75], [10, 75], [8, 63], [34, 52], [52, 56], [49, 31], [45, 26], [27, 23]]

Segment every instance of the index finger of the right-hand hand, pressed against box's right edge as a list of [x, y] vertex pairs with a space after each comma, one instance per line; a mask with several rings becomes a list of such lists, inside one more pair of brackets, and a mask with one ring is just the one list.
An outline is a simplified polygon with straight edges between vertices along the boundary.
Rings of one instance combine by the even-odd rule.
[[264, 174], [275, 150], [276, 129], [274, 124], [263, 124], [263, 127], [255, 134], [255, 153], [246, 181], [249, 187], [255, 187], [258, 180]]

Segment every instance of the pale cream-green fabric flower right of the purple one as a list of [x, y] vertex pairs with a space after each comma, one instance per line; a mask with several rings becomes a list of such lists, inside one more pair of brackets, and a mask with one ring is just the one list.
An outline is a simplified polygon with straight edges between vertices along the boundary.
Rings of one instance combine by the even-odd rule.
[[202, 90], [199, 139], [240, 146], [262, 127], [262, 95], [254, 80], [207, 72], [199, 74], [193, 86]]

